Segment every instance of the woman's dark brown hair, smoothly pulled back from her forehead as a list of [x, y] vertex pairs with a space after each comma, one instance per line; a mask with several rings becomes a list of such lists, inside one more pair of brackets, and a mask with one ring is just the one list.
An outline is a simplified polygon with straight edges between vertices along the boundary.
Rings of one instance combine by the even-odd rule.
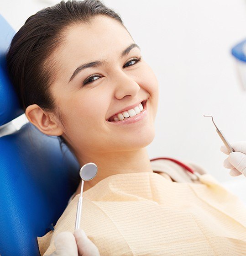
[[[37, 104], [61, 117], [49, 91], [56, 74], [56, 64], [48, 61], [49, 57], [63, 42], [68, 26], [91, 24], [98, 15], [109, 16], [124, 26], [120, 15], [100, 0], [68, 0], [30, 16], [15, 34], [6, 60], [10, 80], [24, 111], [29, 105]], [[60, 145], [66, 143], [62, 136], [58, 137]]]

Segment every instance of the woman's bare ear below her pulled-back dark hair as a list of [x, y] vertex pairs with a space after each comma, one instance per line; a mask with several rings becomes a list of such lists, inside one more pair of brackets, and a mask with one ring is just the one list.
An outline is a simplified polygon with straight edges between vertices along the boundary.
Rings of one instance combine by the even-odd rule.
[[35, 125], [42, 133], [52, 136], [63, 134], [63, 130], [58, 125], [54, 113], [45, 112], [37, 104], [28, 106], [25, 113], [29, 122]]

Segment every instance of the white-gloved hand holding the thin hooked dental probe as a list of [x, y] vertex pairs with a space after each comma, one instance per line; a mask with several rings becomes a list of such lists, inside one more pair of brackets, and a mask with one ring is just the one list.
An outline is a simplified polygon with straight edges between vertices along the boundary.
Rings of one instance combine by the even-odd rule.
[[246, 141], [238, 141], [230, 143], [235, 152], [229, 152], [229, 150], [222, 145], [220, 151], [229, 155], [224, 160], [224, 167], [231, 169], [230, 176], [239, 176], [243, 174], [246, 176]]

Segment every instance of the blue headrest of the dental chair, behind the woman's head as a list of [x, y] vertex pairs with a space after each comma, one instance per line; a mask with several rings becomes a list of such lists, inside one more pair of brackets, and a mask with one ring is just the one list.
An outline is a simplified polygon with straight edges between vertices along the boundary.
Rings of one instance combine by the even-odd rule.
[[8, 22], [0, 15], [0, 126], [24, 113], [14, 87], [11, 85], [5, 58], [15, 33]]

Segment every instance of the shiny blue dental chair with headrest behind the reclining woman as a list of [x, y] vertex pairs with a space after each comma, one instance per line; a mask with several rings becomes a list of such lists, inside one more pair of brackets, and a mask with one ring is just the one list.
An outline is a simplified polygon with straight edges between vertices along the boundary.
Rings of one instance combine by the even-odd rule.
[[31, 123], [1, 133], [24, 113], [6, 69], [14, 34], [0, 16], [0, 256], [39, 256], [37, 236], [52, 230], [63, 213], [80, 167], [65, 145], [60, 149], [58, 137]]

